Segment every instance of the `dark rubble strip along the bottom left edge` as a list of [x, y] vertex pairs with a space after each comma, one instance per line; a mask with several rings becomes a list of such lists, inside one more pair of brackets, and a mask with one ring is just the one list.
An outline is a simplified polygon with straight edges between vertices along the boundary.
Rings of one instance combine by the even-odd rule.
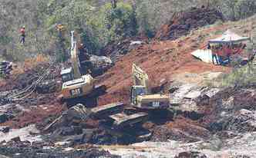
[[[47, 145], [47, 144], [45, 144]], [[96, 147], [89, 146], [86, 149], [75, 150], [72, 148], [56, 148], [52, 144], [49, 146], [37, 146], [28, 142], [20, 143], [8, 143], [0, 146], [0, 154], [5, 156], [11, 156], [14, 158], [34, 158], [34, 157], [67, 157], [67, 158], [119, 158], [120, 156], [115, 156], [106, 152], [105, 150], [99, 150]]]

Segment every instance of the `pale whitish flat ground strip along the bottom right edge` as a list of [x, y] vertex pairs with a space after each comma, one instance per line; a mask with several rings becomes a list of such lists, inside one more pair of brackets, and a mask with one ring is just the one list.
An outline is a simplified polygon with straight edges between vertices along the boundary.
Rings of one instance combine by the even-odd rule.
[[[110, 153], [120, 155], [125, 158], [136, 157], [175, 157], [180, 153], [188, 157], [254, 157], [255, 150], [255, 133], [241, 133], [227, 141], [223, 141], [221, 148], [213, 148], [212, 140], [199, 141], [196, 143], [182, 143], [180, 141], [170, 140], [168, 142], [143, 142], [135, 143], [130, 146], [118, 146], [109, 149], [108, 146], [103, 149]], [[198, 155], [197, 155], [198, 154]]]

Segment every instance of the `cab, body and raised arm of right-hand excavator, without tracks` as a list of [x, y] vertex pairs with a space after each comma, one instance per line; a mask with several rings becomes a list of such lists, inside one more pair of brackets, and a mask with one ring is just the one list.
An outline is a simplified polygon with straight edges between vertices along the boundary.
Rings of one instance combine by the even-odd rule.
[[163, 94], [150, 94], [149, 77], [140, 67], [133, 64], [133, 86], [131, 88], [131, 104], [140, 109], [167, 109], [170, 97]]

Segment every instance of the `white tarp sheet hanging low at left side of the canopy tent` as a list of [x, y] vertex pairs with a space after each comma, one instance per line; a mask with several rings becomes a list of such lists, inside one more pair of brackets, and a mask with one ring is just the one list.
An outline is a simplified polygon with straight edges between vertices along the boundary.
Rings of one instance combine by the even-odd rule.
[[201, 61], [204, 61], [206, 63], [212, 63], [212, 54], [211, 50], [202, 50], [198, 49], [197, 51], [193, 51], [191, 53], [195, 58], [200, 59]]

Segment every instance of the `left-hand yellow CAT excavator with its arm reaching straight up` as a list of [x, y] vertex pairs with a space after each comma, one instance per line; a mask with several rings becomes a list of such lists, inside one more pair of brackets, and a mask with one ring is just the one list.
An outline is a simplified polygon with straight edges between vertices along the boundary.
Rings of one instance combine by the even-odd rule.
[[95, 80], [90, 74], [82, 75], [80, 72], [79, 54], [77, 50], [77, 42], [74, 37], [74, 31], [71, 31], [71, 64], [72, 67], [61, 71], [62, 77], [62, 98], [67, 100], [69, 104], [77, 104], [76, 98], [86, 97], [92, 98], [106, 91], [105, 86], [96, 86]]

